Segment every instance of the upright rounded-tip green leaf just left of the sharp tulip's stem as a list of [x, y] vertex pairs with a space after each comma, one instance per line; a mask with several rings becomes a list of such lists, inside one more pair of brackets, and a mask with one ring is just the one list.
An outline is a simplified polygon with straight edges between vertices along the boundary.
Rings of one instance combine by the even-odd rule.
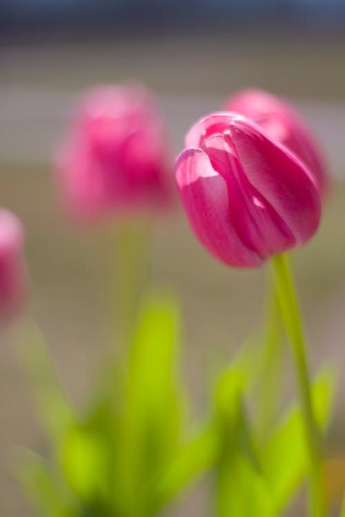
[[273, 517], [273, 500], [244, 409], [244, 381], [242, 372], [230, 367], [215, 392], [215, 419], [221, 440], [216, 467], [217, 515]]

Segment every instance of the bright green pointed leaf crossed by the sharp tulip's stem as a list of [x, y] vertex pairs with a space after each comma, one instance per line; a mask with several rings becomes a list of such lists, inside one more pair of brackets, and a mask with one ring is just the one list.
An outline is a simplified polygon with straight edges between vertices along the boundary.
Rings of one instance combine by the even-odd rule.
[[[312, 386], [315, 416], [323, 430], [331, 414], [334, 385], [335, 373], [324, 369]], [[291, 502], [308, 468], [302, 414], [297, 405], [290, 408], [268, 441], [263, 462], [276, 509], [280, 512]]]

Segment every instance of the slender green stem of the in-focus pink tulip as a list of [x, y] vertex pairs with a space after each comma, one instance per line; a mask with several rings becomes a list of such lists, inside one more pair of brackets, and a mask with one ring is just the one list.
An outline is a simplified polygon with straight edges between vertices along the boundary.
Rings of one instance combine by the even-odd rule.
[[310, 515], [311, 517], [325, 517], [327, 510], [325, 487], [322, 478], [322, 451], [319, 429], [315, 421], [311, 401], [311, 383], [299, 304], [286, 256], [276, 255], [273, 258], [273, 265], [275, 268], [279, 306], [293, 352], [299, 400], [304, 420], [310, 472]]

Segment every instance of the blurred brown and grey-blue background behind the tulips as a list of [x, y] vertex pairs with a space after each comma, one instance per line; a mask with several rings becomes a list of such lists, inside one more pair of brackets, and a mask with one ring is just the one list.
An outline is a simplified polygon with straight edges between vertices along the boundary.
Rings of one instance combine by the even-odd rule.
[[[66, 390], [92, 385], [103, 350], [103, 245], [59, 207], [51, 156], [76, 94], [137, 79], [155, 90], [171, 154], [189, 126], [248, 86], [295, 102], [319, 136], [333, 186], [315, 239], [295, 255], [313, 367], [339, 368], [328, 439], [331, 496], [345, 481], [345, 3], [342, 0], [0, 0], [0, 205], [27, 229], [31, 310]], [[262, 315], [264, 270], [228, 270], [190, 233], [181, 210], [153, 231], [152, 281], [181, 299], [183, 366], [202, 408], [213, 367]], [[43, 449], [30, 392], [6, 339], [0, 347], [1, 517], [26, 517], [11, 473], [18, 445]], [[288, 368], [288, 365], [287, 365]], [[209, 516], [199, 489], [177, 514]]]

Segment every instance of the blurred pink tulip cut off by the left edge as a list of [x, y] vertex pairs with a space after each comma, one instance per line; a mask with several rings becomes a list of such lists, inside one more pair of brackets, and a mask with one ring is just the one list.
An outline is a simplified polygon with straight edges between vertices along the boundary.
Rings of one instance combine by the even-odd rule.
[[26, 296], [23, 227], [14, 214], [0, 209], [0, 322], [20, 310]]

